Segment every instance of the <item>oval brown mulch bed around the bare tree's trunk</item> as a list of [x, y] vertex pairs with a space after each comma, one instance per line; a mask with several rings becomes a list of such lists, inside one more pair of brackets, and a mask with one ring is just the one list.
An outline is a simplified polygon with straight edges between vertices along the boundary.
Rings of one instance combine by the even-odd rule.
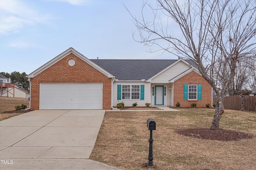
[[210, 139], [216, 141], [240, 141], [242, 139], [250, 139], [252, 135], [242, 132], [229, 131], [224, 129], [218, 129], [216, 131], [211, 129], [183, 129], [177, 131], [180, 135], [189, 137], [195, 137], [199, 139]]

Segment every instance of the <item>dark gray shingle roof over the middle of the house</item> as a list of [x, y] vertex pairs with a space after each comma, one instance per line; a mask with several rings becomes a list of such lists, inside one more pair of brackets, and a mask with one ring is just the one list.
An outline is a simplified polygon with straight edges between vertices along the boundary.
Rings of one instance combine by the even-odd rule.
[[[118, 80], [148, 80], [177, 60], [91, 60]], [[192, 61], [186, 60], [194, 65]]]

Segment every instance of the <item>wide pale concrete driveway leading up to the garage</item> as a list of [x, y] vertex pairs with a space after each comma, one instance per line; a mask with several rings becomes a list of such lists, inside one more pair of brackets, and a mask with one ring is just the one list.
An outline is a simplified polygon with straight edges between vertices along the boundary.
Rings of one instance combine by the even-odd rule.
[[0, 121], [0, 169], [117, 168], [88, 160], [105, 110], [36, 110]]

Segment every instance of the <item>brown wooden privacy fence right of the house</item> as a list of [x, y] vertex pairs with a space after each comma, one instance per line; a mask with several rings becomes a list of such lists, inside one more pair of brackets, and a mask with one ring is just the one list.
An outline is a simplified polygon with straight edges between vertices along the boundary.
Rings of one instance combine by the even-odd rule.
[[[217, 98], [213, 98], [216, 103]], [[256, 96], [227, 96], [223, 99], [224, 109], [256, 111]]]

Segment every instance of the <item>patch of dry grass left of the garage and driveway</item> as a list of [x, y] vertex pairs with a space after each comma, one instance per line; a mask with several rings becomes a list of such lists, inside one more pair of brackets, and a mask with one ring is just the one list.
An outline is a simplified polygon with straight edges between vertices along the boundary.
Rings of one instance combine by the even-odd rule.
[[4, 111], [15, 110], [15, 106], [21, 105], [21, 104], [25, 104], [27, 107], [29, 107], [28, 99], [0, 97], [0, 121], [22, 114], [22, 113], [2, 113]]

